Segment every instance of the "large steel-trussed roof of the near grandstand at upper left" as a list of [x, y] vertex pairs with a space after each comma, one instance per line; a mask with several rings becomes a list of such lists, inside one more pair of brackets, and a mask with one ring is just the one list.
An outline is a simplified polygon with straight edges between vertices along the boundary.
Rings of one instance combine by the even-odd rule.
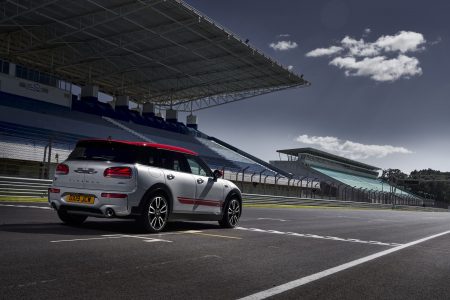
[[189, 111], [309, 84], [179, 0], [10, 0], [0, 11], [0, 57], [137, 102]]

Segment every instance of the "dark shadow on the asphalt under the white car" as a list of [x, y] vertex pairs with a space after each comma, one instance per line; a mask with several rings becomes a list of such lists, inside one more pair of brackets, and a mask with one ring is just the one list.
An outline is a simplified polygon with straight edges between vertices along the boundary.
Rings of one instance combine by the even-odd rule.
[[[162, 233], [186, 230], [212, 230], [220, 226], [214, 222], [169, 222]], [[63, 223], [29, 223], [0, 225], [0, 232], [90, 236], [98, 234], [145, 234], [134, 220], [87, 220], [79, 226]]]

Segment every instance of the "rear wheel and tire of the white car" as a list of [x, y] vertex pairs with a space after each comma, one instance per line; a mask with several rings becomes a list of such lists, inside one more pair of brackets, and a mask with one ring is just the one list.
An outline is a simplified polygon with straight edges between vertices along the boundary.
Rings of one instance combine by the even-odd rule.
[[156, 194], [145, 203], [138, 223], [146, 232], [161, 232], [167, 225], [169, 218], [169, 201], [166, 196]]

